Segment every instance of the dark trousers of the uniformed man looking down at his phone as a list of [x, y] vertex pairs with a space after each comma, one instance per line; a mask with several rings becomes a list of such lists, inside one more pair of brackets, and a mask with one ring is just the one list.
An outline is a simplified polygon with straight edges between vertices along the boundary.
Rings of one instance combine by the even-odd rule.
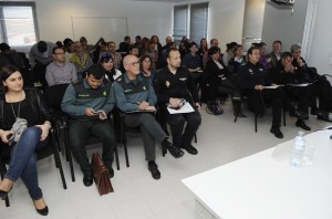
[[92, 173], [85, 149], [85, 145], [91, 136], [96, 137], [103, 144], [102, 158], [106, 167], [112, 166], [113, 154], [116, 147], [114, 128], [110, 121], [70, 121], [70, 146], [83, 174]]

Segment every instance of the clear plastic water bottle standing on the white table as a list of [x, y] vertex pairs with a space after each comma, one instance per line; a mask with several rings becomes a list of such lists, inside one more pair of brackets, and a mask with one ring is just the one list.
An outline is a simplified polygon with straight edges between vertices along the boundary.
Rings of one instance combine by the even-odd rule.
[[301, 167], [305, 149], [304, 132], [300, 131], [293, 143], [293, 150], [290, 158], [290, 165]]

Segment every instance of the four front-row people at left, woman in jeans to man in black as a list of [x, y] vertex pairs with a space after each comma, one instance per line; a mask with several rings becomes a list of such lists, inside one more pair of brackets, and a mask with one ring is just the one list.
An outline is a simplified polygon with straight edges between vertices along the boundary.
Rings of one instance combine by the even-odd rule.
[[[126, 72], [113, 83], [105, 80], [102, 67], [93, 65], [87, 70], [85, 79], [68, 86], [61, 107], [69, 115], [70, 147], [83, 171], [85, 186], [93, 184], [93, 173], [85, 149], [89, 136], [95, 136], [103, 143], [102, 159], [110, 177], [114, 176], [112, 163], [116, 139], [107, 116], [115, 105], [124, 113], [139, 111], [125, 114], [124, 123], [127, 126], [139, 126], [145, 159], [154, 179], [160, 178], [155, 163], [155, 142], [167, 148], [175, 158], [184, 156], [183, 149], [193, 155], [198, 153], [191, 145], [201, 122], [196, 87], [188, 70], [180, 66], [180, 54], [177, 50], [168, 53], [167, 62], [167, 67], [155, 77], [155, 88], [152, 80], [141, 74], [138, 58], [135, 55], [124, 58]], [[49, 108], [41, 92], [23, 88], [22, 75], [15, 66], [3, 66], [0, 77], [4, 86], [0, 97], [0, 103], [3, 104], [0, 124], [1, 149], [8, 150], [11, 156], [8, 171], [0, 182], [0, 198], [4, 199], [21, 177], [37, 211], [48, 215], [49, 208], [38, 182], [34, 150], [43, 147], [49, 140]], [[183, 98], [191, 105], [194, 112], [169, 114], [166, 105], [178, 107]], [[154, 105], [157, 102], [170, 126], [173, 143], [151, 113], [155, 111]], [[14, 133], [11, 127], [17, 118], [27, 121], [27, 128], [22, 131], [19, 139], [12, 142], [10, 136]]]

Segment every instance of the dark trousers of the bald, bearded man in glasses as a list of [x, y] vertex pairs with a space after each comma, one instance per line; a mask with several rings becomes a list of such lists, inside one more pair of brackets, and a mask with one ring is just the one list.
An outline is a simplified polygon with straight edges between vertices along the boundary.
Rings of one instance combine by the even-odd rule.
[[143, 137], [145, 159], [151, 161], [156, 159], [155, 140], [162, 143], [167, 138], [160, 124], [151, 113], [125, 114], [124, 123], [128, 127], [139, 126]]

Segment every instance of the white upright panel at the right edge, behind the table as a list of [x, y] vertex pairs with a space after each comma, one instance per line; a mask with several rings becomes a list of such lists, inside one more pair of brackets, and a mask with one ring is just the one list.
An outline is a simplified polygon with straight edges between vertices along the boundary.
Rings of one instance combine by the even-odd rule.
[[311, 52], [307, 62], [317, 66], [320, 74], [332, 75], [332, 1], [318, 1], [314, 34], [311, 44]]

